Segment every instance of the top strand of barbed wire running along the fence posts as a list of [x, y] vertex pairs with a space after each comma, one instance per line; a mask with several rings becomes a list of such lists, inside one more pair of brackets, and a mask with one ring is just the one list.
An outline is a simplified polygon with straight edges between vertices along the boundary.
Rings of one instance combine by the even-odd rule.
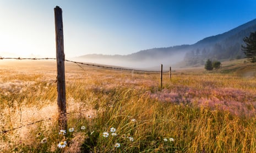
[[[16, 59], [16, 60], [56, 60], [56, 58], [20, 58], [20, 57], [19, 58], [3, 58], [3, 57], [0, 57], [0, 60], [3, 60], [3, 59]], [[151, 73], [159, 73], [160, 72], [160, 71], [149, 71], [149, 70], [137, 70], [137, 69], [127, 68], [127, 67], [118, 67], [118, 66], [112, 67], [112, 66], [104, 66], [104, 65], [100, 65], [100, 64], [89, 64], [89, 63], [83, 63], [83, 62], [67, 60], [67, 59], [65, 59], [65, 61], [70, 62], [70, 63], [75, 63], [78, 66], [80, 66], [80, 65], [87, 65], [87, 66], [101, 67], [101, 68], [104, 68], [104, 69], [114, 69], [114, 70], [124, 70], [124, 71], [137, 71], [137, 72], [149, 72], [149, 73], [150, 72]], [[83, 67], [81, 67], [81, 68], [83, 69]], [[163, 73], [168, 73], [168, 72], [169, 71], [165, 71]]]

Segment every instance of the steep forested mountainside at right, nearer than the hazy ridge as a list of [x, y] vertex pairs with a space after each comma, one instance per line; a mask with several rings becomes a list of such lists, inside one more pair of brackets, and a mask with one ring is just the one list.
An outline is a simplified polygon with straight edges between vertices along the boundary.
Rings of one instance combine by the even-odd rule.
[[256, 19], [220, 35], [211, 36], [190, 46], [184, 57], [186, 65], [203, 65], [207, 59], [241, 59], [244, 53], [241, 45], [243, 38], [256, 31]]

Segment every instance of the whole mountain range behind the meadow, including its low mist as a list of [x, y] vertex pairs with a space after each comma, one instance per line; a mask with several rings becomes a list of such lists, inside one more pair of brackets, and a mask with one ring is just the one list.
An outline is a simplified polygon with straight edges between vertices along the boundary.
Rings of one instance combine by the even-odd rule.
[[255, 31], [256, 19], [220, 35], [206, 37], [192, 45], [145, 49], [129, 55], [89, 54], [76, 59], [139, 69], [150, 69], [160, 64], [171, 66], [177, 63], [183, 63], [182, 66], [198, 66], [204, 65], [207, 59], [223, 61], [243, 58], [243, 38]]

